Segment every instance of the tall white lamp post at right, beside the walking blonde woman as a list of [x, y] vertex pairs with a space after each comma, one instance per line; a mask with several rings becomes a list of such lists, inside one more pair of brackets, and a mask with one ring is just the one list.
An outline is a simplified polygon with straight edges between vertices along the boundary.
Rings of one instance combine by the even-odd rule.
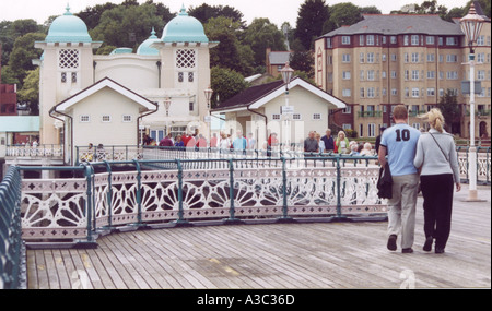
[[484, 19], [477, 14], [475, 4], [471, 2], [468, 14], [459, 20], [461, 31], [465, 33], [466, 40], [470, 48], [470, 149], [468, 152], [468, 201], [477, 201], [477, 148], [475, 146], [475, 50]]

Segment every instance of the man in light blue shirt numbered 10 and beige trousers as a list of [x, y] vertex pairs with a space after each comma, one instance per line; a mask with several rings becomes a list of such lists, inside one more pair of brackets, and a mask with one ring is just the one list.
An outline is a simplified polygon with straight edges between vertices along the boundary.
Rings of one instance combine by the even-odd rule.
[[384, 131], [378, 153], [382, 166], [388, 162], [393, 178], [393, 198], [388, 200], [387, 248], [395, 251], [397, 237], [401, 234], [402, 252], [412, 253], [419, 189], [413, 158], [420, 131], [407, 124], [408, 111], [403, 105], [395, 107], [393, 117], [395, 125]]

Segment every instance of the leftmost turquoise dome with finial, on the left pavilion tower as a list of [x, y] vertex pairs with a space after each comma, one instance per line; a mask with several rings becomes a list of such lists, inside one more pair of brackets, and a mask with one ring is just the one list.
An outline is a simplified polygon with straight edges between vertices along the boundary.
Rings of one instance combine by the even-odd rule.
[[48, 35], [45, 38], [47, 43], [92, 43], [92, 38], [87, 32], [87, 25], [84, 21], [67, 12], [55, 19], [49, 27]]

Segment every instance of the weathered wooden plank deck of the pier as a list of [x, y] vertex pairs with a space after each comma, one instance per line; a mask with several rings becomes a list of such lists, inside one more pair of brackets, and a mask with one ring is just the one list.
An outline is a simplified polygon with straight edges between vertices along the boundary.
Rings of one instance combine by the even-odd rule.
[[102, 237], [95, 250], [28, 250], [28, 288], [490, 288], [491, 193], [455, 196], [445, 254], [386, 249], [387, 223], [190, 227]]

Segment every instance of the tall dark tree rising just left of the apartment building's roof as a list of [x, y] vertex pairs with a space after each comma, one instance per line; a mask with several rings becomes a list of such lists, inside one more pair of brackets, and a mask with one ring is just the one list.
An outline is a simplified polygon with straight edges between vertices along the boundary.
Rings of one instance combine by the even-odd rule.
[[328, 5], [325, 0], [305, 0], [298, 10], [295, 38], [304, 48], [311, 49], [314, 39], [323, 35], [323, 25], [329, 19]]

